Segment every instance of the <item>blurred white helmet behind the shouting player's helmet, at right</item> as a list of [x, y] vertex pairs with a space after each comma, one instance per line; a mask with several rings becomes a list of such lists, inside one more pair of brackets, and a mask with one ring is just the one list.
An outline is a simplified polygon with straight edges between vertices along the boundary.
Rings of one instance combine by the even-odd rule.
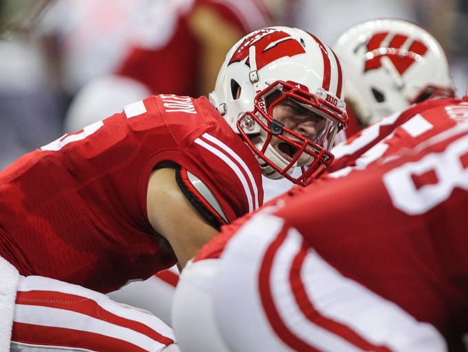
[[338, 38], [333, 50], [346, 75], [346, 104], [364, 126], [413, 103], [454, 96], [441, 45], [414, 23], [359, 23]]

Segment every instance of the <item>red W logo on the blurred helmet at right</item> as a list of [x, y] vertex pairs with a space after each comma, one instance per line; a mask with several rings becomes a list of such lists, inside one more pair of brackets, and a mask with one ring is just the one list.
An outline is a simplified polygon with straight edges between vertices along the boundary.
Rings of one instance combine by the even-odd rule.
[[427, 47], [420, 40], [414, 40], [408, 49], [402, 49], [403, 44], [408, 40], [408, 36], [403, 34], [396, 34], [388, 45], [383, 46], [382, 42], [389, 34], [388, 32], [376, 33], [368, 41], [367, 55], [370, 54], [370, 58], [366, 60], [364, 72], [381, 67], [381, 58], [386, 56], [394, 64], [397, 71], [403, 75], [427, 51]]

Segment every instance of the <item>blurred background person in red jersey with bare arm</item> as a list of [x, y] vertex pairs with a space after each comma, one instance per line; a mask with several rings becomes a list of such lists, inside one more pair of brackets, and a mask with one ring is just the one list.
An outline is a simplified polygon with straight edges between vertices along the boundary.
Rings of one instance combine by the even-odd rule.
[[242, 5], [225, 0], [174, 1], [155, 7], [144, 14], [144, 25], [117, 69], [153, 93], [208, 94], [216, 80], [213, 66], [219, 67], [232, 44], [271, 25], [259, 0]]

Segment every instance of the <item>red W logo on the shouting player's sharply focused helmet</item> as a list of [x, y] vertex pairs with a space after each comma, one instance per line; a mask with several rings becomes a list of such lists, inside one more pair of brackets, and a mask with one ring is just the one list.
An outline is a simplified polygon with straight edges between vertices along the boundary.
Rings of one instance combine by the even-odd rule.
[[258, 70], [279, 58], [306, 52], [304, 47], [291, 35], [278, 30], [265, 29], [245, 38], [241, 46], [232, 55], [229, 64], [247, 59], [245, 64], [250, 67], [249, 47], [252, 45], [256, 48], [255, 59]]

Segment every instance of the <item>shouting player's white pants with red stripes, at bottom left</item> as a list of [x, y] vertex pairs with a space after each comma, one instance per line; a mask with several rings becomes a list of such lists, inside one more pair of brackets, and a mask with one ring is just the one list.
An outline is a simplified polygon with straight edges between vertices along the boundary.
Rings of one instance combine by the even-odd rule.
[[143, 309], [78, 285], [20, 277], [12, 352], [159, 352], [167, 345], [178, 351], [174, 340], [172, 329]]

